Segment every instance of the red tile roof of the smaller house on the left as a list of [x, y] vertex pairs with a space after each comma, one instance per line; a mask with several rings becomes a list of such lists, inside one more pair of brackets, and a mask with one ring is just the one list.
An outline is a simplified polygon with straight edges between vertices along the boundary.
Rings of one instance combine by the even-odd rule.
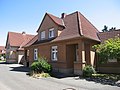
[[22, 46], [27, 44], [33, 37], [34, 35], [30, 35], [30, 34], [8, 32], [6, 45], [9, 41], [10, 46], [17, 46], [21, 48]]

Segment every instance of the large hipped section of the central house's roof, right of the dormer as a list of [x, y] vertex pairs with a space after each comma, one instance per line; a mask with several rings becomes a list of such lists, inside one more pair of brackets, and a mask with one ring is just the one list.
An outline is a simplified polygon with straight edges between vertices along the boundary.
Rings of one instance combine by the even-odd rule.
[[66, 15], [63, 21], [66, 27], [54, 41], [80, 36], [100, 41], [97, 36], [99, 31], [80, 12]]

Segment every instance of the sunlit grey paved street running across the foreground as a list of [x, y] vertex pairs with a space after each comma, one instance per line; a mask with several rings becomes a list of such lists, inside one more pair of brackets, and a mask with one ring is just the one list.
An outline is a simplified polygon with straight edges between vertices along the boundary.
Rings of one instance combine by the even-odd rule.
[[67, 78], [35, 79], [26, 75], [28, 69], [18, 64], [0, 64], [0, 90], [120, 90], [120, 87]]

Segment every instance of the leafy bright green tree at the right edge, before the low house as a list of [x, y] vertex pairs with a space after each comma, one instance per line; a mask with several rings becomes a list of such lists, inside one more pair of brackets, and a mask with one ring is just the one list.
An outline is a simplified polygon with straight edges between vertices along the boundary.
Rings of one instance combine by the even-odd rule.
[[94, 45], [101, 62], [107, 62], [108, 59], [117, 59], [120, 61], [120, 38], [115, 37], [106, 40], [104, 43]]

